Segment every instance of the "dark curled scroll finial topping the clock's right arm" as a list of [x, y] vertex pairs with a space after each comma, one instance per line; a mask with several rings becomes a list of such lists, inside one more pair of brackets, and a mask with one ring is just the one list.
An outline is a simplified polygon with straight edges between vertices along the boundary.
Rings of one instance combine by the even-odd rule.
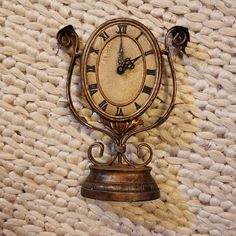
[[188, 28], [174, 26], [170, 28], [165, 37], [165, 47], [173, 46], [177, 51], [185, 53], [185, 48], [190, 41]]

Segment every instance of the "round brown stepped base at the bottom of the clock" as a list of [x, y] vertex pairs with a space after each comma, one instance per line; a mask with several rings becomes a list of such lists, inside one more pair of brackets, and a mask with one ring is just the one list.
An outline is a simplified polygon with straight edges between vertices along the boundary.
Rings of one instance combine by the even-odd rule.
[[150, 172], [151, 167], [92, 165], [90, 174], [82, 185], [81, 195], [102, 201], [154, 200], [160, 197], [160, 191]]

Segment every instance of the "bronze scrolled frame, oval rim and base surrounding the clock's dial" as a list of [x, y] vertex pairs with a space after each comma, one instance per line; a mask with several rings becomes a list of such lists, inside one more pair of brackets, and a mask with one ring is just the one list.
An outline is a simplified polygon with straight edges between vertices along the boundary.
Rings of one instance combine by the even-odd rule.
[[[101, 109], [98, 109], [97, 105], [89, 96], [88, 91], [86, 91], [87, 84], [84, 79], [84, 77], [86, 76], [84, 68], [88, 54], [88, 48], [89, 46], [91, 46], [90, 42], [93, 40], [93, 38], [99, 33], [101, 33], [102, 30], [106, 29], [106, 27], [121, 23], [137, 26], [145, 31], [145, 34], [151, 41], [151, 44], [154, 45], [153, 47], [157, 58], [157, 61], [155, 63], [158, 67], [158, 74], [156, 75], [154, 80], [155, 91], [152, 93], [150, 98], [148, 98], [147, 102], [145, 102], [143, 107], [140, 110], [138, 109], [138, 111], [133, 114], [129, 114], [124, 117], [116, 117], [106, 113], [105, 111], [101, 111]], [[189, 39], [189, 33], [186, 28], [175, 26], [168, 30], [164, 42], [165, 49], [161, 51], [157, 40], [144, 25], [135, 20], [127, 18], [118, 18], [114, 20], [109, 20], [102, 24], [90, 36], [90, 38], [88, 39], [88, 43], [85, 45], [85, 50], [84, 52], [82, 52], [82, 48], [80, 47], [80, 39], [71, 25], [64, 27], [58, 32], [57, 40], [59, 46], [64, 48], [71, 56], [71, 62], [68, 70], [66, 84], [66, 96], [69, 102], [69, 108], [71, 112], [80, 124], [85, 125], [88, 128], [103, 132], [104, 134], [108, 135], [114, 143], [113, 155], [107, 162], [98, 161], [97, 158], [95, 158], [93, 155], [93, 149], [99, 148], [99, 157], [102, 158], [104, 152], [103, 143], [95, 142], [89, 147], [88, 158], [93, 163], [93, 165], [90, 166], [90, 174], [82, 185], [82, 196], [108, 201], [145, 201], [159, 198], [160, 192], [154, 179], [150, 174], [151, 168], [147, 167], [147, 165], [151, 162], [153, 156], [151, 147], [146, 143], [139, 144], [137, 146], [138, 158], [140, 160], [143, 159], [141, 155], [143, 149], [147, 151], [146, 156], [148, 157], [143, 160], [142, 163], [135, 163], [128, 157], [126, 153], [126, 145], [128, 139], [131, 136], [139, 132], [158, 127], [169, 117], [171, 111], [174, 108], [177, 91], [176, 77], [172, 62], [171, 50], [174, 49], [174, 52], [179, 55], [181, 53], [185, 53], [185, 47], [187, 46]], [[146, 109], [148, 109], [148, 107], [150, 107], [153, 100], [158, 94], [162, 79], [162, 57], [164, 55], [167, 57], [167, 60], [170, 65], [173, 83], [171, 102], [169, 104], [168, 109], [161, 117], [159, 117], [153, 124], [145, 126], [144, 122], [139, 117], [143, 112], [145, 112]], [[142, 59], [144, 60], [143, 52], [142, 55], [139, 57], [142, 57]], [[73, 105], [71, 97], [71, 77], [77, 59], [80, 60], [82, 68], [80, 80], [83, 92], [85, 93], [85, 96], [92, 109], [100, 115], [101, 121], [104, 124], [105, 128], [96, 127], [90, 124], [85, 117], [79, 114], [79, 112], [75, 109]], [[126, 58], [124, 62], [128, 64], [124, 64], [123, 67], [119, 66], [117, 68], [117, 73], [122, 75], [125, 70], [133, 69], [133, 61], [135, 60], [136, 59], [131, 60], [130, 58]], [[120, 71], [118, 71], [118, 69], [120, 69]]]

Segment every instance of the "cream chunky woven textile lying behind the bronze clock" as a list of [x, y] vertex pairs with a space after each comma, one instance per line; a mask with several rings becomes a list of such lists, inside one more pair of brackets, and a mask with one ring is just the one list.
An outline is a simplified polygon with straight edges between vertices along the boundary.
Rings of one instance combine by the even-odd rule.
[[[109, 139], [70, 113], [69, 57], [55, 36], [72, 24], [86, 41], [115, 17], [139, 20], [160, 41], [176, 24], [191, 34], [175, 60], [171, 117], [131, 139], [154, 149], [155, 201], [79, 194], [89, 145]], [[236, 235], [235, 19], [235, 0], [0, 0], [0, 235]]]

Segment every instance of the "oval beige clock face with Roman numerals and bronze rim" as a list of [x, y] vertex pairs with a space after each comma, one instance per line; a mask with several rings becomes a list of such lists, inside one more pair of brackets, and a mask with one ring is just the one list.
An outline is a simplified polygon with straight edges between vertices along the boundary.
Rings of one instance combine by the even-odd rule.
[[133, 119], [155, 99], [160, 68], [160, 48], [144, 25], [124, 18], [107, 21], [90, 36], [83, 52], [86, 98], [103, 118]]

